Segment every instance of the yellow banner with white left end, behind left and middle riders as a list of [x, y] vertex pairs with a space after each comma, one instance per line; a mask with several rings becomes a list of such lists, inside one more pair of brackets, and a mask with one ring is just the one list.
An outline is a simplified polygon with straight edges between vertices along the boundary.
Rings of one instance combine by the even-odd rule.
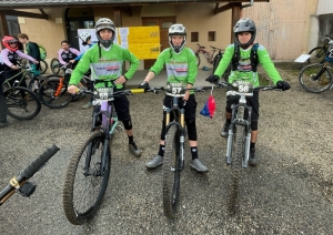
[[118, 43], [140, 60], [157, 59], [160, 54], [159, 27], [117, 28]]

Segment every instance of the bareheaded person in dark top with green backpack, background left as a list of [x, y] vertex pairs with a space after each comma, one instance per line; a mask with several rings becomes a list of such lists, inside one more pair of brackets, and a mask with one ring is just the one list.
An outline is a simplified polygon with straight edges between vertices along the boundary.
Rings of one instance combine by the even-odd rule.
[[[26, 33], [18, 34], [19, 41], [26, 47], [27, 54], [32, 57], [37, 61], [41, 61], [39, 47], [36, 42], [29, 41], [29, 37]], [[40, 64], [30, 63], [34, 76], [40, 75]]]

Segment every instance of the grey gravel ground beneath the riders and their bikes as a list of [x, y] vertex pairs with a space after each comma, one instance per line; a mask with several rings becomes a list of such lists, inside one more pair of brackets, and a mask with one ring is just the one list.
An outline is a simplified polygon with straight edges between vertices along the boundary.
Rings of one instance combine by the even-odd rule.
[[[85, 98], [61, 110], [42, 106], [31, 121], [9, 117], [10, 125], [0, 130], [1, 187], [52, 143], [61, 147], [33, 176], [38, 187], [30, 198], [16, 194], [1, 206], [1, 234], [332, 234], [333, 92], [309, 93], [299, 85], [296, 69], [282, 64], [279, 71], [292, 89], [260, 94], [260, 164], [242, 172], [235, 216], [228, 213], [230, 168], [224, 163], [226, 142], [219, 135], [224, 91], [214, 90], [218, 110], [212, 120], [198, 114], [199, 155], [210, 172], [190, 168], [186, 152], [175, 221], [163, 215], [161, 167], [144, 166], [158, 150], [163, 99], [147, 93], [129, 98], [142, 156], [130, 155], [125, 133], [119, 131], [97, 216], [83, 226], [71, 225], [62, 210], [62, 187], [69, 159], [90, 135], [91, 111], [81, 110]], [[208, 93], [196, 94], [198, 112], [206, 99]]]

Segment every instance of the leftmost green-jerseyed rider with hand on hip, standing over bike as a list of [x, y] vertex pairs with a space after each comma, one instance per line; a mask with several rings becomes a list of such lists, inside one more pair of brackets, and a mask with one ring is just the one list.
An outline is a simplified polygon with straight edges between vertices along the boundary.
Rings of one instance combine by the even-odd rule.
[[[123, 90], [123, 83], [131, 79], [139, 67], [139, 59], [118, 44], [113, 44], [115, 38], [115, 27], [108, 18], [101, 18], [95, 23], [95, 34], [99, 40], [91, 49], [85, 51], [77, 68], [74, 69], [68, 91], [72, 94], [77, 92], [77, 85], [82, 75], [89, 70], [95, 75], [94, 88], [112, 88], [114, 91]], [[124, 61], [131, 63], [128, 71], [122, 71]], [[122, 121], [129, 137], [129, 149], [134, 156], [140, 156], [142, 151], [138, 149], [132, 131], [132, 120], [130, 115], [130, 102], [127, 95], [114, 98], [114, 108], [118, 119]], [[94, 112], [100, 111], [100, 105], [94, 106]]]

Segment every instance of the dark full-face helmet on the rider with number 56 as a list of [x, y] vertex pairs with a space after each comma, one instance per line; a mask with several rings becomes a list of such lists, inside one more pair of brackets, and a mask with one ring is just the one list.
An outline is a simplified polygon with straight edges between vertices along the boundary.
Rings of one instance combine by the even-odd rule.
[[[241, 32], [251, 32], [251, 39], [249, 42], [241, 43], [239, 41], [239, 37], [238, 34]], [[234, 33], [234, 41], [235, 43], [238, 43], [241, 47], [249, 47], [253, 43], [254, 39], [255, 39], [255, 34], [256, 34], [256, 28], [255, 28], [255, 23], [253, 20], [251, 20], [250, 18], [244, 18], [241, 19], [236, 22], [236, 24], [233, 27], [233, 33]]]

